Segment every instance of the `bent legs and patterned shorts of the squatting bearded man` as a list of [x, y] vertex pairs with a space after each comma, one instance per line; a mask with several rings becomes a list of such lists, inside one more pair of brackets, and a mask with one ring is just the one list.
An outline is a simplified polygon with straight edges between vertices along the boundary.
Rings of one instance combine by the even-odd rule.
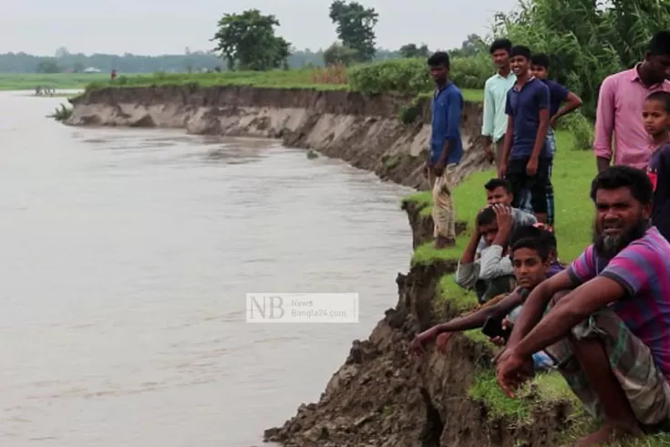
[[654, 426], [670, 417], [670, 385], [649, 348], [611, 309], [587, 318], [546, 352], [586, 410], [603, 421], [577, 445], [638, 436], [640, 424]]

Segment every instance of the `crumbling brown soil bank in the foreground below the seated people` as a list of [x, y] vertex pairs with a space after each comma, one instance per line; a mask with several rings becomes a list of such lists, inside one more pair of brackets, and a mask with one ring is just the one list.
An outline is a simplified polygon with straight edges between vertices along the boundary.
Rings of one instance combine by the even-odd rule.
[[[422, 216], [420, 204], [403, 208], [415, 243], [426, 242], [430, 217]], [[446, 355], [434, 348], [422, 359], [407, 354], [417, 331], [463, 312], [462, 303], [438, 292], [455, 267], [435, 260], [397, 275], [397, 306], [368, 339], [353, 342], [321, 399], [265, 431], [265, 440], [300, 447], [560, 445], [574, 426], [572, 400], [537, 386], [520, 400], [504, 398], [491, 376], [494, 347], [483, 336], [455, 335]]]

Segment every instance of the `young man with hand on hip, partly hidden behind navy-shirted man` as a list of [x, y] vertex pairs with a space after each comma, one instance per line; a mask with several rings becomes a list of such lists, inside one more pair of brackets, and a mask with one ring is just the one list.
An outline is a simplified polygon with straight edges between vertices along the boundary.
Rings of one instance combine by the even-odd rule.
[[[551, 154], [549, 164], [549, 181], [547, 182], [547, 224], [553, 226], [554, 204], [553, 204], [553, 185], [551, 185], [551, 168], [553, 166], [553, 157], [556, 154], [556, 140], [554, 140], [553, 130], [556, 127], [556, 121], [564, 115], [572, 112], [582, 105], [582, 99], [572, 91], [564, 88], [561, 84], [551, 79], [547, 79], [549, 73], [549, 57], [543, 53], [534, 54], [531, 57], [531, 74], [540, 79], [549, 88], [549, 129], [547, 130], [547, 145]], [[563, 104], [564, 103], [564, 104]], [[561, 105], [563, 106], [561, 107]], [[529, 201], [530, 202], [530, 201]], [[530, 203], [527, 205], [530, 206]]]

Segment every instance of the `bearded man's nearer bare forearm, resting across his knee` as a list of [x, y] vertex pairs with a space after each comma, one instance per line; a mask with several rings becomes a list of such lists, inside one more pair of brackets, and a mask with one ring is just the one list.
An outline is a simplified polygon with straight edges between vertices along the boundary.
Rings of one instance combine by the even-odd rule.
[[[555, 277], [555, 276], [554, 276]], [[598, 309], [626, 296], [627, 291], [617, 281], [598, 276], [563, 296], [538, 325], [514, 348], [521, 358], [528, 358], [555, 343]], [[530, 299], [530, 297], [529, 297]], [[525, 309], [524, 309], [525, 310]]]

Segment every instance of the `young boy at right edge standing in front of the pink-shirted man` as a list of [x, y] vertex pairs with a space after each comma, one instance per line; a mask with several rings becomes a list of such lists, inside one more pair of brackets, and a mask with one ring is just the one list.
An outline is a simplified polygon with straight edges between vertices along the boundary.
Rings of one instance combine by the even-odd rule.
[[647, 176], [652, 181], [652, 224], [670, 240], [670, 93], [656, 91], [644, 100], [644, 130], [652, 139]]

